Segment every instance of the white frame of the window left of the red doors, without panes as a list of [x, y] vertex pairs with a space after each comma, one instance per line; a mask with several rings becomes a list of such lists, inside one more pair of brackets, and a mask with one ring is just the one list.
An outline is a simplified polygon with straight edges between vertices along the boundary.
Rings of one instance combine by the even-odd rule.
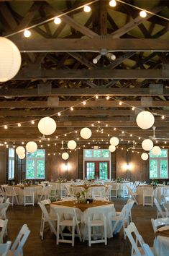
[[[45, 152], [45, 155], [46, 155], [46, 151], [45, 151], [45, 149], [42, 149], [42, 148], [38, 148], [37, 150], [43, 150], [44, 152]], [[44, 155], [44, 157], [27, 157], [27, 155], [26, 155], [26, 179], [45, 179], [45, 176], [46, 176], [46, 171], [44, 170], [44, 177], [42, 178], [42, 177], [37, 177], [37, 161], [44, 161], [44, 163], [45, 163], [45, 155]], [[35, 176], [34, 176], [34, 178], [29, 178], [28, 176], [27, 176], [27, 161], [35, 161], [35, 168], [34, 168], [34, 174], [35, 174]]]

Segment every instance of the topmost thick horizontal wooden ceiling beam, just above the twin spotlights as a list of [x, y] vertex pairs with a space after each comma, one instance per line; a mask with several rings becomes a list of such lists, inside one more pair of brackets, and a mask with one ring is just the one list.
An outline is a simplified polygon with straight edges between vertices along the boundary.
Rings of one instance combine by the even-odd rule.
[[60, 51], [169, 51], [169, 40], [152, 38], [112, 38], [98, 36], [86, 38], [43, 38], [27, 40], [12, 38], [21, 52], [60, 52]]

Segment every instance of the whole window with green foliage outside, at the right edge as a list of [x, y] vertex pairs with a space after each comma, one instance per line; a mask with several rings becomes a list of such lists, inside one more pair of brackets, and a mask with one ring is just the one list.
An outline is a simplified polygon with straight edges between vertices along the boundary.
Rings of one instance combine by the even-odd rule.
[[168, 179], [168, 150], [161, 150], [160, 155], [150, 151], [150, 179]]

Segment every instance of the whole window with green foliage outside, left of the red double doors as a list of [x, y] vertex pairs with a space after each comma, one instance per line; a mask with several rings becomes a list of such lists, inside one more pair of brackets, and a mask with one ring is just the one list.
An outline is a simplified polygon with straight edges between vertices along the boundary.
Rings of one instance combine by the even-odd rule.
[[27, 153], [27, 179], [45, 179], [45, 150]]

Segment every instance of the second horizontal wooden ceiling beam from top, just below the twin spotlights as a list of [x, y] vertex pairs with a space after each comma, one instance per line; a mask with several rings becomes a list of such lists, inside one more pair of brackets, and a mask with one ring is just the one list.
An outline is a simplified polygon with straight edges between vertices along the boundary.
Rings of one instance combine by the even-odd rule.
[[13, 80], [165, 79], [163, 69], [32, 69], [20, 70]]

